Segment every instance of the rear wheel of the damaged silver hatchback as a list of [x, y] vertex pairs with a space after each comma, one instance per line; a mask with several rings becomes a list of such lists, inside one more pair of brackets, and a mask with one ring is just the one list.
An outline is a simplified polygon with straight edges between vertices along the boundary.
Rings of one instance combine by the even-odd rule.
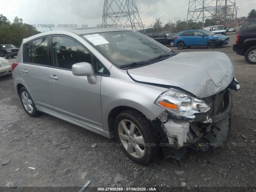
[[26, 111], [26, 113], [28, 115], [30, 115], [32, 117], [36, 117], [41, 114], [41, 112], [39, 112], [36, 109], [36, 106], [31, 98], [30, 94], [24, 87], [22, 87], [20, 89], [20, 101], [21, 101], [21, 104], [22, 104], [24, 110]]

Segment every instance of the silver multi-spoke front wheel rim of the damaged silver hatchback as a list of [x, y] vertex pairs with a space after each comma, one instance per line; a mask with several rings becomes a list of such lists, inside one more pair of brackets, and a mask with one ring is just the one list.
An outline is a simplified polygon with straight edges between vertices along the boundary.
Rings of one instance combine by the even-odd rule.
[[138, 127], [129, 120], [122, 120], [118, 125], [118, 134], [126, 151], [135, 158], [145, 154], [144, 138]]

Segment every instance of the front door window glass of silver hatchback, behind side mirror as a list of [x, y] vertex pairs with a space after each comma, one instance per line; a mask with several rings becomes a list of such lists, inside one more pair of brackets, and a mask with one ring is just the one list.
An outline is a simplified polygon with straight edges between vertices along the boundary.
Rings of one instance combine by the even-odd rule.
[[91, 54], [74, 40], [62, 37], [52, 37], [53, 66], [71, 69], [72, 65], [80, 62], [92, 63]]

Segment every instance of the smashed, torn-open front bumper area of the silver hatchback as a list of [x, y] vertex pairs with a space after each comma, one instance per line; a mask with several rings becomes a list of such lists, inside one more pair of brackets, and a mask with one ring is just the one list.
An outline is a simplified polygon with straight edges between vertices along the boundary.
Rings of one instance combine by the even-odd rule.
[[[240, 88], [235, 78], [228, 88]], [[210, 152], [223, 146], [231, 128], [232, 94], [228, 88], [211, 98], [205, 98], [212, 102], [209, 114], [203, 114], [194, 120], [180, 120], [168, 118], [166, 112], [153, 122], [165, 157], [180, 160], [187, 148]]]

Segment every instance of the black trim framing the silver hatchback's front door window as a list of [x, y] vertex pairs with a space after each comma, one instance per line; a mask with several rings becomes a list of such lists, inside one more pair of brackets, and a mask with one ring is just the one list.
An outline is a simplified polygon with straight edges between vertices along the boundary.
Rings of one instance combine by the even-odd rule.
[[[70, 38], [72, 39], [74, 42], [76, 42], [77, 44], [79, 44], [80, 46], [82, 46], [82, 48], [84, 48], [87, 52], [89, 52], [91, 54], [91, 61], [94, 62], [94, 57], [97, 58], [88, 48], [86, 48], [82, 43], [80, 43], [78, 40], [76, 40], [75, 38], [71, 37], [71, 36], [68, 36], [68, 35], [64, 35], [64, 34], [52, 34], [50, 35], [50, 42], [49, 42], [49, 51], [52, 50], [52, 38], [53, 37], [66, 37], [66, 38]], [[50, 58], [50, 65], [49, 67], [50, 68], [56, 68], [56, 69], [61, 69], [61, 70], [67, 70], [67, 71], [72, 71], [72, 69], [67, 69], [67, 68], [61, 68], [61, 67], [56, 67], [56, 66], [53, 66], [53, 58], [52, 58], [52, 52], [50, 52], [49, 54], [49, 58]], [[97, 58], [98, 59], [98, 58]], [[98, 59], [99, 60], [99, 59]], [[100, 61], [100, 60], [99, 60]], [[101, 62], [101, 61], [100, 61]], [[102, 62], [101, 62], [102, 63]], [[94, 69], [94, 65], [91, 63], [93, 69]], [[102, 63], [102, 65], [106, 68], [106, 66]], [[106, 68], [106, 70], [108, 70]], [[94, 69], [94, 74], [95, 75], [98, 75], [98, 76], [110, 76], [110, 71], [108, 70], [108, 74], [102, 74], [102, 73], [96, 73], [95, 72], [95, 69]]]

